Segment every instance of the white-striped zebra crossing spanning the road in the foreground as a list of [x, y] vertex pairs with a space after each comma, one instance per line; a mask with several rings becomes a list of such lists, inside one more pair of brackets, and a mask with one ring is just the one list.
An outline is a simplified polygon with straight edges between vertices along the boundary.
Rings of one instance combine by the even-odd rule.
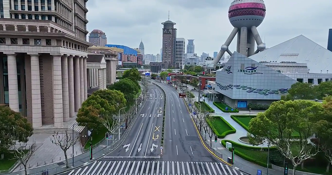
[[[68, 172], [67, 172], [68, 173]], [[66, 174], [67, 174], [66, 173]], [[96, 161], [67, 175], [246, 175], [220, 162]]]

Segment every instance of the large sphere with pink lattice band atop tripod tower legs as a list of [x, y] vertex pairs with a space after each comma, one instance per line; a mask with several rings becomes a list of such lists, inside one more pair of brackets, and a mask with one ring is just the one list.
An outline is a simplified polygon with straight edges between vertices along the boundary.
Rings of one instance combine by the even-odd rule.
[[265, 17], [265, 4], [262, 0], [234, 0], [228, 10], [232, 26], [241, 28], [258, 27]]

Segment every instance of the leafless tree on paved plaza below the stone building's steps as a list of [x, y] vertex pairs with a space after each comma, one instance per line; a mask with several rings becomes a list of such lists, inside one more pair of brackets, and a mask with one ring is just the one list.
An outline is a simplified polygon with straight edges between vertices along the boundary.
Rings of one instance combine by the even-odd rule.
[[67, 150], [79, 141], [79, 137], [72, 136], [68, 133], [68, 130], [66, 130], [64, 134], [59, 134], [58, 132], [54, 133], [50, 139], [53, 144], [60, 146], [60, 148], [63, 150], [64, 157], [66, 159], [66, 168], [69, 168]]

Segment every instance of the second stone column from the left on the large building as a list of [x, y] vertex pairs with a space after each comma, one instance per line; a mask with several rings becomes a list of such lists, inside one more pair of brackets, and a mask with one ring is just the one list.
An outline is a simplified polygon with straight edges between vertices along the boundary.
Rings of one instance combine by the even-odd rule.
[[41, 120], [41, 81], [39, 71], [39, 55], [30, 55], [31, 61], [31, 97], [32, 97], [32, 127], [42, 126]]

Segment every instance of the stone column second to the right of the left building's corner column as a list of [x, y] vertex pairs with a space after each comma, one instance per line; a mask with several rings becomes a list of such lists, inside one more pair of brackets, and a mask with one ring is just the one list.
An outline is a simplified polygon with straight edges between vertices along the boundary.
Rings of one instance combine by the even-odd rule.
[[74, 98], [74, 64], [73, 56], [68, 56], [68, 96], [69, 96], [69, 117], [75, 116], [75, 98]]

